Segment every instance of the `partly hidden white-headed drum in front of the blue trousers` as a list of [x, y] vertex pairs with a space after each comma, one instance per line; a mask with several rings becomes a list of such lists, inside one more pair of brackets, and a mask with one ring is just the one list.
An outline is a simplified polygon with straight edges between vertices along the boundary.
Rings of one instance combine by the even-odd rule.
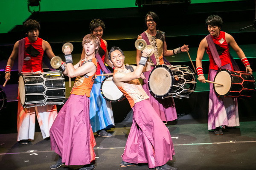
[[103, 79], [100, 91], [102, 96], [109, 102], [119, 102], [120, 100], [125, 99], [122, 91], [120, 91], [113, 82], [113, 76], [107, 76]]

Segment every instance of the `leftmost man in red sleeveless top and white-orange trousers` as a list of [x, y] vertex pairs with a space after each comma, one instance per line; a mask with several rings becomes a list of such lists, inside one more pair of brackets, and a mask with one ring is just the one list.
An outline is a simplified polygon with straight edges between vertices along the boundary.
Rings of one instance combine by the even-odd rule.
[[[36, 20], [27, 20], [24, 24], [26, 38], [15, 42], [5, 71], [5, 79], [10, 79], [11, 68], [15, 59], [18, 57], [18, 71], [21, 72], [43, 72], [42, 60], [44, 54], [50, 59], [55, 55], [49, 43], [38, 37], [40, 24]], [[49, 129], [57, 116], [56, 105], [38, 106], [38, 112], [35, 108], [23, 108], [18, 94], [18, 114], [17, 114], [17, 141], [21, 144], [27, 144], [29, 140], [34, 139], [35, 133], [35, 114], [43, 135], [43, 138], [49, 137]]]

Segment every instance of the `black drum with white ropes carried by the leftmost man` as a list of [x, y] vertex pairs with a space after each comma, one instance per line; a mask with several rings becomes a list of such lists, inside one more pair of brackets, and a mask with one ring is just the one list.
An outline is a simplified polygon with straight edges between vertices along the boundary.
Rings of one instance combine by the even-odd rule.
[[19, 93], [24, 108], [62, 105], [65, 99], [64, 76], [60, 71], [21, 73]]

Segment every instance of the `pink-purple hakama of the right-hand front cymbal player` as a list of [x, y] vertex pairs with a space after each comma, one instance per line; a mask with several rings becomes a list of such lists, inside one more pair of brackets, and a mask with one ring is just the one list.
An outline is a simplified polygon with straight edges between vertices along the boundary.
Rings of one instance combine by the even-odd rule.
[[175, 154], [168, 128], [156, 114], [148, 99], [135, 103], [133, 124], [122, 159], [149, 168], [162, 166]]

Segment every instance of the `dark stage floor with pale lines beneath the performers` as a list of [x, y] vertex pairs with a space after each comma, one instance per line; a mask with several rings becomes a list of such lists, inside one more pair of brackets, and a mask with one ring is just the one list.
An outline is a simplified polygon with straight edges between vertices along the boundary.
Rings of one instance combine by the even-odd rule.
[[[175, 156], [168, 164], [179, 170], [255, 170], [256, 121], [240, 122], [217, 136], [207, 130], [207, 123], [185, 116], [175, 125], [167, 125], [175, 147]], [[131, 115], [130, 119], [131, 120]], [[254, 119], [255, 120], [255, 119]], [[147, 165], [119, 167], [131, 122], [118, 123], [110, 138], [95, 136], [96, 170], [149, 170]], [[1, 170], [48, 170], [58, 156], [50, 150], [50, 141], [35, 133], [27, 145], [17, 143], [17, 134], [0, 134]], [[79, 167], [60, 167], [60, 170]]]

